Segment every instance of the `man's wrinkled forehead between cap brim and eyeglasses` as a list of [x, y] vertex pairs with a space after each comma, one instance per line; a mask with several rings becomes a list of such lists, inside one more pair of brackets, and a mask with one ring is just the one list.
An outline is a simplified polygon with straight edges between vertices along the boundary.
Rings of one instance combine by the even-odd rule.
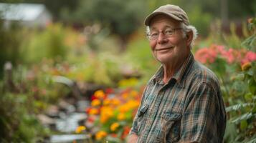
[[164, 14], [156, 15], [152, 18], [149, 24], [150, 29], [156, 29], [158, 27], [170, 26], [172, 28], [179, 27], [181, 25], [181, 21], [177, 21], [172, 19], [170, 16], [166, 16]]

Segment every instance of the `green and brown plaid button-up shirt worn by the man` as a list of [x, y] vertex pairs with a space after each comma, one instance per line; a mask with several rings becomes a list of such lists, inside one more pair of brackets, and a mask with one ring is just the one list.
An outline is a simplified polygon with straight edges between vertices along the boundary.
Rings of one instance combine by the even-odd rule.
[[168, 84], [149, 80], [130, 134], [138, 142], [222, 142], [226, 112], [217, 77], [189, 55]]

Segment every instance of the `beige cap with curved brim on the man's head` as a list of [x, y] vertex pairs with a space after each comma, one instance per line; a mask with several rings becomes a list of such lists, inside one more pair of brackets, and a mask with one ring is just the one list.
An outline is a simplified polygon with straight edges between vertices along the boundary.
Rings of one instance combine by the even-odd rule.
[[165, 14], [177, 21], [182, 21], [184, 24], [189, 25], [189, 17], [186, 15], [186, 12], [179, 6], [175, 6], [172, 4], [160, 6], [158, 9], [156, 9], [146, 17], [144, 24], [146, 26], [149, 26], [152, 18], [158, 14]]

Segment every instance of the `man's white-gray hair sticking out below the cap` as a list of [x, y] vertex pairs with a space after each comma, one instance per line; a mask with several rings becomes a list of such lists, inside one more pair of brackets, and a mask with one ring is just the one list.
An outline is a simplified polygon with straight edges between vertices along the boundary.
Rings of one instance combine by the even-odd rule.
[[[192, 31], [193, 32], [193, 39], [191, 41], [191, 44], [189, 45], [190, 49], [192, 49], [192, 47], [194, 46], [194, 41], [196, 40], [197, 38], [197, 35], [198, 35], [198, 32], [196, 30], [196, 27], [192, 26], [192, 25], [186, 25], [184, 23], [181, 23], [181, 29], [183, 29], [183, 37], [186, 36], [186, 34], [189, 32], [189, 31]], [[146, 34], [150, 34], [150, 27], [149, 26], [146, 26]]]

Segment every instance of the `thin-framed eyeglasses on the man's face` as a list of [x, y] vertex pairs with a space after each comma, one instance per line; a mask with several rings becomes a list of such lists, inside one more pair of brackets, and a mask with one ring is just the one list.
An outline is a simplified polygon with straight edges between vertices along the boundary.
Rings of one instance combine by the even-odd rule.
[[165, 37], [171, 37], [171, 36], [174, 36], [175, 31], [179, 30], [179, 29], [181, 29], [181, 28], [165, 29], [163, 31], [152, 31], [152, 33], [147, 34], [147, 37], [148, 37], [149, 40], [156, 40], [156, 39], [158, 39], [158, 36], [159, 36], [160, 33], [162, 33], [163, 36], [165, 36]]

